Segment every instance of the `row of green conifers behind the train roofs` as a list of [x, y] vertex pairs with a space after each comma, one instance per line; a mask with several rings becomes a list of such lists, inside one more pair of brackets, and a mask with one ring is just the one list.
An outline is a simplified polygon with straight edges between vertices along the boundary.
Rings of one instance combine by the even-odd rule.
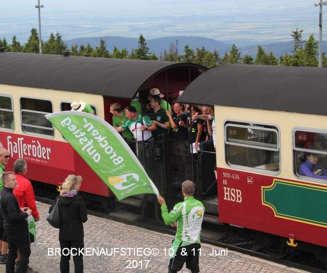
[[[229, 52], [225, 52], [223, 57], [219, 56], [217, 50], [208, 51], [204, 47], [192, 49], [189, 45], [185, 45], [183, 52], [180, 54], [178, 50], [178, 40], [168, 45], [168, 50], [160, 53], [158, 57], [155, 53], [149, 51], [145, 37], [141, 34], [138, 39], [138, 46], [130, 53], [126, 48], [120, 50], [113, 47], [112, 54], [107, 49], [104, 39], [100, 39], [99, 45], [92, 48], [91, 45], [77, 45], [71, 47], [71, 55], [74, 56], [88, 56], [88, 57], [103, 57], [103, 58], [129, 58], [129, 59], [142, 59], [142, 60], [169, 60], [169, 61], [183, 61], [194, 62], [203, 65], [207, 68], [213, 68], [219, 65], [226, 64], [245, 64], [245, 65], [282, 65], [282, 66], [307, 66], [317, 67], [317, 42], [314, 35], [311, 34], [307, 41], [302, 40], [303, 30], [298, 27], [291, 32], [294, 40], [294, 46], [291, 53], [284, 54], [279, 57], [279, 60], [273, 55], [272, 52], [267, 54], [263, 47], [258, 46], [258, 51], [253, 60], [253, 57], [246, 54], [241, 58], [241, 52], [235, 44], [231, 46]], [[39, 35], [35, 28], [31, 29], [31, 34], [28, 41], [22, 46], [17, 41], [16, 36], [12, 37], [11, 44], [7, 39], [0, 38], [0, 47], [4, 47], [5, 51], [12, 52], [28, 52], [39, 53]], [[45, 54], [61, 54], [62, 51], [67, 50], [67, 46], [62, 40], [62, 36], [57, 32], [51, 33], [48, 40], [42, 41], [42, 49]], [[323, 54], [323, 67], [327, 67], [327, 57]]]

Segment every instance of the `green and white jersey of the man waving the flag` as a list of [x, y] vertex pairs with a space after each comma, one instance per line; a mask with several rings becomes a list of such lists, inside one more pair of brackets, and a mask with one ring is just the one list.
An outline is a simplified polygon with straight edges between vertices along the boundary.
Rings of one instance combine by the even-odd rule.
[[167, 205], [161, 206], [161, 215], [166, 225], [177, 221], [177, 232], [172, 244], [174, 253], [179, 246], [200, 243], [201, 225], [204, 215], [204, 205], [193, 196], [185, 197], [183, 202], [176, 204], [168, 213]]

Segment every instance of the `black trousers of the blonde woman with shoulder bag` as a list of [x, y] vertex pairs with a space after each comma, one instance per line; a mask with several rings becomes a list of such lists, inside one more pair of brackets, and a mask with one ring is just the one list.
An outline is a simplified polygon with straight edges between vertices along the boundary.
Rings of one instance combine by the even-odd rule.
[[[60, 272], [68, 273], [69, 272], [69, 260], [71, 260], [71, 249], [73, 255], [73, 261], [75, 266], [75, 273], [83, 272], [83, 255], [79, 255], [79, 249], [84, 248], [84, 238], [76, 240], [76, 241], [68, 241], [68, 240], [60, 240], [60, 248], [61, 248], [61, 257], [60, 257]], [[69, 249], [69, 255], [67, 255]], [[83, 251], [84, 253], [84, 251]], [[77, 254], [77, 255], [75, 255]]]

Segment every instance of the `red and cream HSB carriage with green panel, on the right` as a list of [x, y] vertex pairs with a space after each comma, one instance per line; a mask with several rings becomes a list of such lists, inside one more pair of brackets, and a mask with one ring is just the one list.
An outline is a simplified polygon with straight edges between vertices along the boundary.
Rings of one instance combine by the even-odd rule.
[[181, 97], [215, 105], [220, 222], [250, 230], [274, 257], [306, 249], [327, 261], [325, 75], [220, 66]]

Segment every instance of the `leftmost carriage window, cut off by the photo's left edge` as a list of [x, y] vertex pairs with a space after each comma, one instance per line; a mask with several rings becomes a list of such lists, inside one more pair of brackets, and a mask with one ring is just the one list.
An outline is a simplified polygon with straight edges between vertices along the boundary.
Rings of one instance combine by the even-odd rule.
[[0, 96], [0, 129], [13, 131], [15, 129], [12, 98]]

